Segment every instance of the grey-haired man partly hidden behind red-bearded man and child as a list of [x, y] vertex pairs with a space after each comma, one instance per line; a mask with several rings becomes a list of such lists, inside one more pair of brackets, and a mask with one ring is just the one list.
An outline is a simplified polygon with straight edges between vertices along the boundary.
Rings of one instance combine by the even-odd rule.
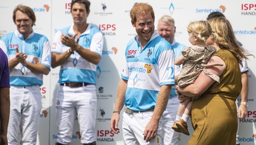
[[[174, 51], [174, 58], [176, 59], [181, 54], [181, 51], [184, 49], [185, 45], [180, 44], [175, 41], [174, 33], [176, 31], [176, 27], [174, 25], [174, 19], [170, 16], [164, 15], [158, 20], [157, 31], [161, 37], [163, 37], [166, 41], [172, 44], [172, 48]], [[175, 67], [175, 83], [177, 83], [177, 79], [180, 74], [181, 66]], [[175, 93], [175, 87], [172, 88], [168, 104], [165, 112], [163, 112], [163, 144], [164, 145], [178, 145], [180, 134], [179, 132], [174, 131], [171, 127], [175, 120], [180, 120], [181, 116], [176, 116], [178, 107], [179, 107], [179, 99], [177, 98], [177, 94]]]

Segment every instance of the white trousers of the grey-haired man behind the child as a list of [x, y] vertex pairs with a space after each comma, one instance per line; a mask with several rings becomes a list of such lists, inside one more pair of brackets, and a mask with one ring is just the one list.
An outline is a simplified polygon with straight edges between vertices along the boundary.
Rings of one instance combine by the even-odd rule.
[[181, 133], [174, 131], [171, 127], [176, 119], [179, 99], [177, 96], [172, 96], [168, 100], [165, 112], [163, 112], [163, 144], [164, 145], [178, 145]]

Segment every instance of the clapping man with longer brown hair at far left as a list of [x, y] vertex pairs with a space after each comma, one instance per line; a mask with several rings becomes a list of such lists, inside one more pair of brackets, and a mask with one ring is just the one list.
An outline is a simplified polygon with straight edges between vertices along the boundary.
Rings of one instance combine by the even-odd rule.
[[13, 11], [13, 21], [16, 31], [0, 39], [10, 69], [8, 144], [18, 144], [20, 129], [20, 144], [34, 145], [42, 108], [39, 86], [43, 84], [43, 74], [47, 75], [51, 68], [50, 45], [44, 35], [34, 33], [35, 14], [28, 6], [18, 5]]

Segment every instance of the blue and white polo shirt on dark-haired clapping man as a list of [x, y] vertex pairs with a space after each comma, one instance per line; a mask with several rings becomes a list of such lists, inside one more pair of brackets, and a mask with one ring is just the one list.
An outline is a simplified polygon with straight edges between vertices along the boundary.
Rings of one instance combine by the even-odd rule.
[[[61, 43], [61, 34], [74, 35], [73, 25], [67, 28], [58, 30], [52, 46], [52, 53], [65, 53], [70, 47]], [[75, 41], [77, 38], [75, 38]], [[89, 49], [92, 52], [102, 55], [103, 49], [103, 35], [99, 28], [88, 25], [85, 32], [79, 37], [78, 44], [84, 49]], [[74, 52], [65, 63], [61, 64], [59, 81], [63, 84], [66, 82], [84, 82], [89, 84], [96, 84], [96, 68], [97, 65], [83, 59], [77, 52]]]

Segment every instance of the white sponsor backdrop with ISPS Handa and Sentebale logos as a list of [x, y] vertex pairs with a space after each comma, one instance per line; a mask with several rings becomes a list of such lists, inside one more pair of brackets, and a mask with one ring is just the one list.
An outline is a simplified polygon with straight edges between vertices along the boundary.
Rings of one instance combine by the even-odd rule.
[[[16, 26], [12, 20], [12, 12], [18, 4], [30, 6], [36, 15], [36, 26], [34, 32], [45, 35], [52, 44], [58, 29], [72, 24], [70, 14], [71, 0], [8, 0], [0, 4], [0, 35], [13, 32]], [[125, 48], [127, 42], [136, 35], [131, 25], [129, 12], [137, 2], [146, 2], [153, 6], [155, 11], [155, 28], [158, 19], [162, 15], [171, 15], [175, 20], [175, 39], [185, 45], [190, 45], [186, 27], [191, 21], [205, 20], [210, 12], [222, 12], [230, 20], [237, 39], [253, 55], [256, 56], [256, 3], [254, 0], [223, 1], [215, 2], [179, 1], [179, 0], [91, 0], [90, 14], [87, 22], [99, 27], [104, 35], [104, 48], [102, 60], [97, 68], [97, 99], [98, 109], [96, 118], [96, 134], [98, 145], [122, 145], [122, 131], [114, 134], [110, 130], [110, 119], [116, 99], [117, 84], [125, 63]], [[254, 99], [256, 90], [255, 73], [256, 61], [250, 57], [248, 66], [249, 94], [248, 115], [239, 120], [239, 141], [243, 145], [253, 145], [253, 124], [256, 122], [256, 106]], [[40, 115], [40, 126], [37, 145], [53, 145], [56, 142], [57, 126], [55, 123], [56, 92], [58, 87], [59, 67], [52, 69], [50, 74], [44, 76], [44, 84], [41, 88], [43, 109]], [[212, 108], [215, 109], [215, 108]], [[123, 111], [122, 111], [123, 112]], [[122, 112], [120, 118], [122, 120]], [[220, 116], [225, 117], [225, 116]], [[74, 118], [75, 125], [72, 133], [72, 145], [80, 144], [80, 133], [77, 117]], [[189, 124], [190, 134], [193, 129]], [[122, 128], [122, 121], [119, 122]], [[190, 135], [191, 136], [191, 135]], [[181, 135], [180, 144], [186, 144], [190, 136]], [[255, 135], [256, 136], [256, 135]]]

